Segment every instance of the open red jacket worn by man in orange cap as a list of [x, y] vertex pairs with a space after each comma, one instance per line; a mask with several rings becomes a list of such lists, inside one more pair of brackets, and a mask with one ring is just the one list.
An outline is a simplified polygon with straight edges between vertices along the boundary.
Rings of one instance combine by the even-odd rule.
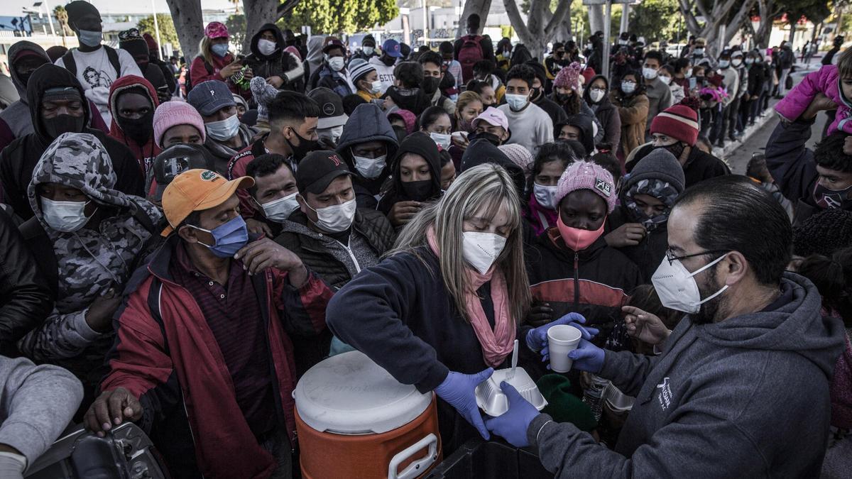
[[[198, 304], [170, 278], [170, 257], [178, 240], [173, 235], [131, 279], [128, 291], [133, 292], [118, 315], [115, 343], [107, 356], [110, 372], [101, 390], [123, 387], [140, 398], [140, 425], [152, 435], [172, 476], [200, 472], [212, 478], [267, 477], [277, 463], [257, 444], [243, 418], [222, 352]], [[252, 276], [252, 282], [258, 297], [266, 298], [260, 320], [268, 326], [278, 379], [273, 382], [277, 419], [295, 443], [291, 335], [313, 335], [325, 328], [332, 292], [314, 274], [296, 290], [286, 273], [273, 268]]]

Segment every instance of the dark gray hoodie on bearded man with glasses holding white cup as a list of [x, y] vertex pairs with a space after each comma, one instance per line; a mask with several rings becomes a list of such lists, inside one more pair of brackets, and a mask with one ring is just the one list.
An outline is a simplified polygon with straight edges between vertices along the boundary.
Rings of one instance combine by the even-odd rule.
[[843, 325], [820, 315], [809, 280], [785, 274], [781, 291], [769, 311], [681, 320], [662, 355], [607, 351], [600, 375], [636, 396], [615, 451], [540, 414], [527, 438], [544, 467], [557, 477], [819, 476]]

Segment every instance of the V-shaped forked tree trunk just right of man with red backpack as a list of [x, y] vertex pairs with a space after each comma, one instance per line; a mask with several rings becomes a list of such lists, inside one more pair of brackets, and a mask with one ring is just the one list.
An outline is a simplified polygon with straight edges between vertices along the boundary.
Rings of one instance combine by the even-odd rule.
[[562, 20], [571, 16], [571, 0], [559, 0], [555, 12], [550, 12], [550, 0], [531, 0], [527, 23], [524, 24], [515, 0], [503, 0], [503, 4], [521, 43], [527, 46], [533, 58], [538, 59], [544, 55], [547, 43], [560, 32]]

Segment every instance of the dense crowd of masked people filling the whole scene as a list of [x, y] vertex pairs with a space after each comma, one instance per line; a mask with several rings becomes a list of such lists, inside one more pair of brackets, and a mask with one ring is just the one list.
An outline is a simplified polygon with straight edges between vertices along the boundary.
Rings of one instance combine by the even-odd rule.
[[[211, 22], [181, 69], [66, 11], [80, 46], [15, 43], [0, 112], [0, 476], [125, 421], [173, 477], [298, 476], [296, 381], [353, 349], [434, 391], [445, 457], [499, 436], [560, 477], [848, 474], [852, 53], [791, 92], [787, 44], [625, 33], [604, 59], [598, 32], [537, 59], [471, 15], [436, 51], [267, 24], [237, 54]], [[733, 175], [712, 147], [772, 96]], [[515, 339], [550, 405], [504, 383], [484, 417]], [[579, 399], [602, 381], [632, 409]]]

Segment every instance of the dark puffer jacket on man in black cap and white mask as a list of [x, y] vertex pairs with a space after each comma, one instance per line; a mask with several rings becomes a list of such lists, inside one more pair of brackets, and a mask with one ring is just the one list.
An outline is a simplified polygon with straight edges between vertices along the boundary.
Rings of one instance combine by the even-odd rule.
[[[313, 234], [302, 234], [300, 230], [305, 229], [307, 222], [308, 218], [302, 211], [295, 211], [284, 223], [284, 230], [275, 241], [296, 253], [308, 269], [337, 291], [352, 280], [352, 275], [346, 265], [328, 251], [320, 240], [314, 238]], [[302, 228], [299, 228], [300, 226]], [[375, 210], [355, 211], [353, 229], [354, 234], [360, 234], [366, 240], [377, 259], [382, 257], [385, 251], [389, 251], [396, 240], [394, 227], [390, 225], [388, 218]], [[367, 266], [372, 264], [361, 265], [361, 268]]]

